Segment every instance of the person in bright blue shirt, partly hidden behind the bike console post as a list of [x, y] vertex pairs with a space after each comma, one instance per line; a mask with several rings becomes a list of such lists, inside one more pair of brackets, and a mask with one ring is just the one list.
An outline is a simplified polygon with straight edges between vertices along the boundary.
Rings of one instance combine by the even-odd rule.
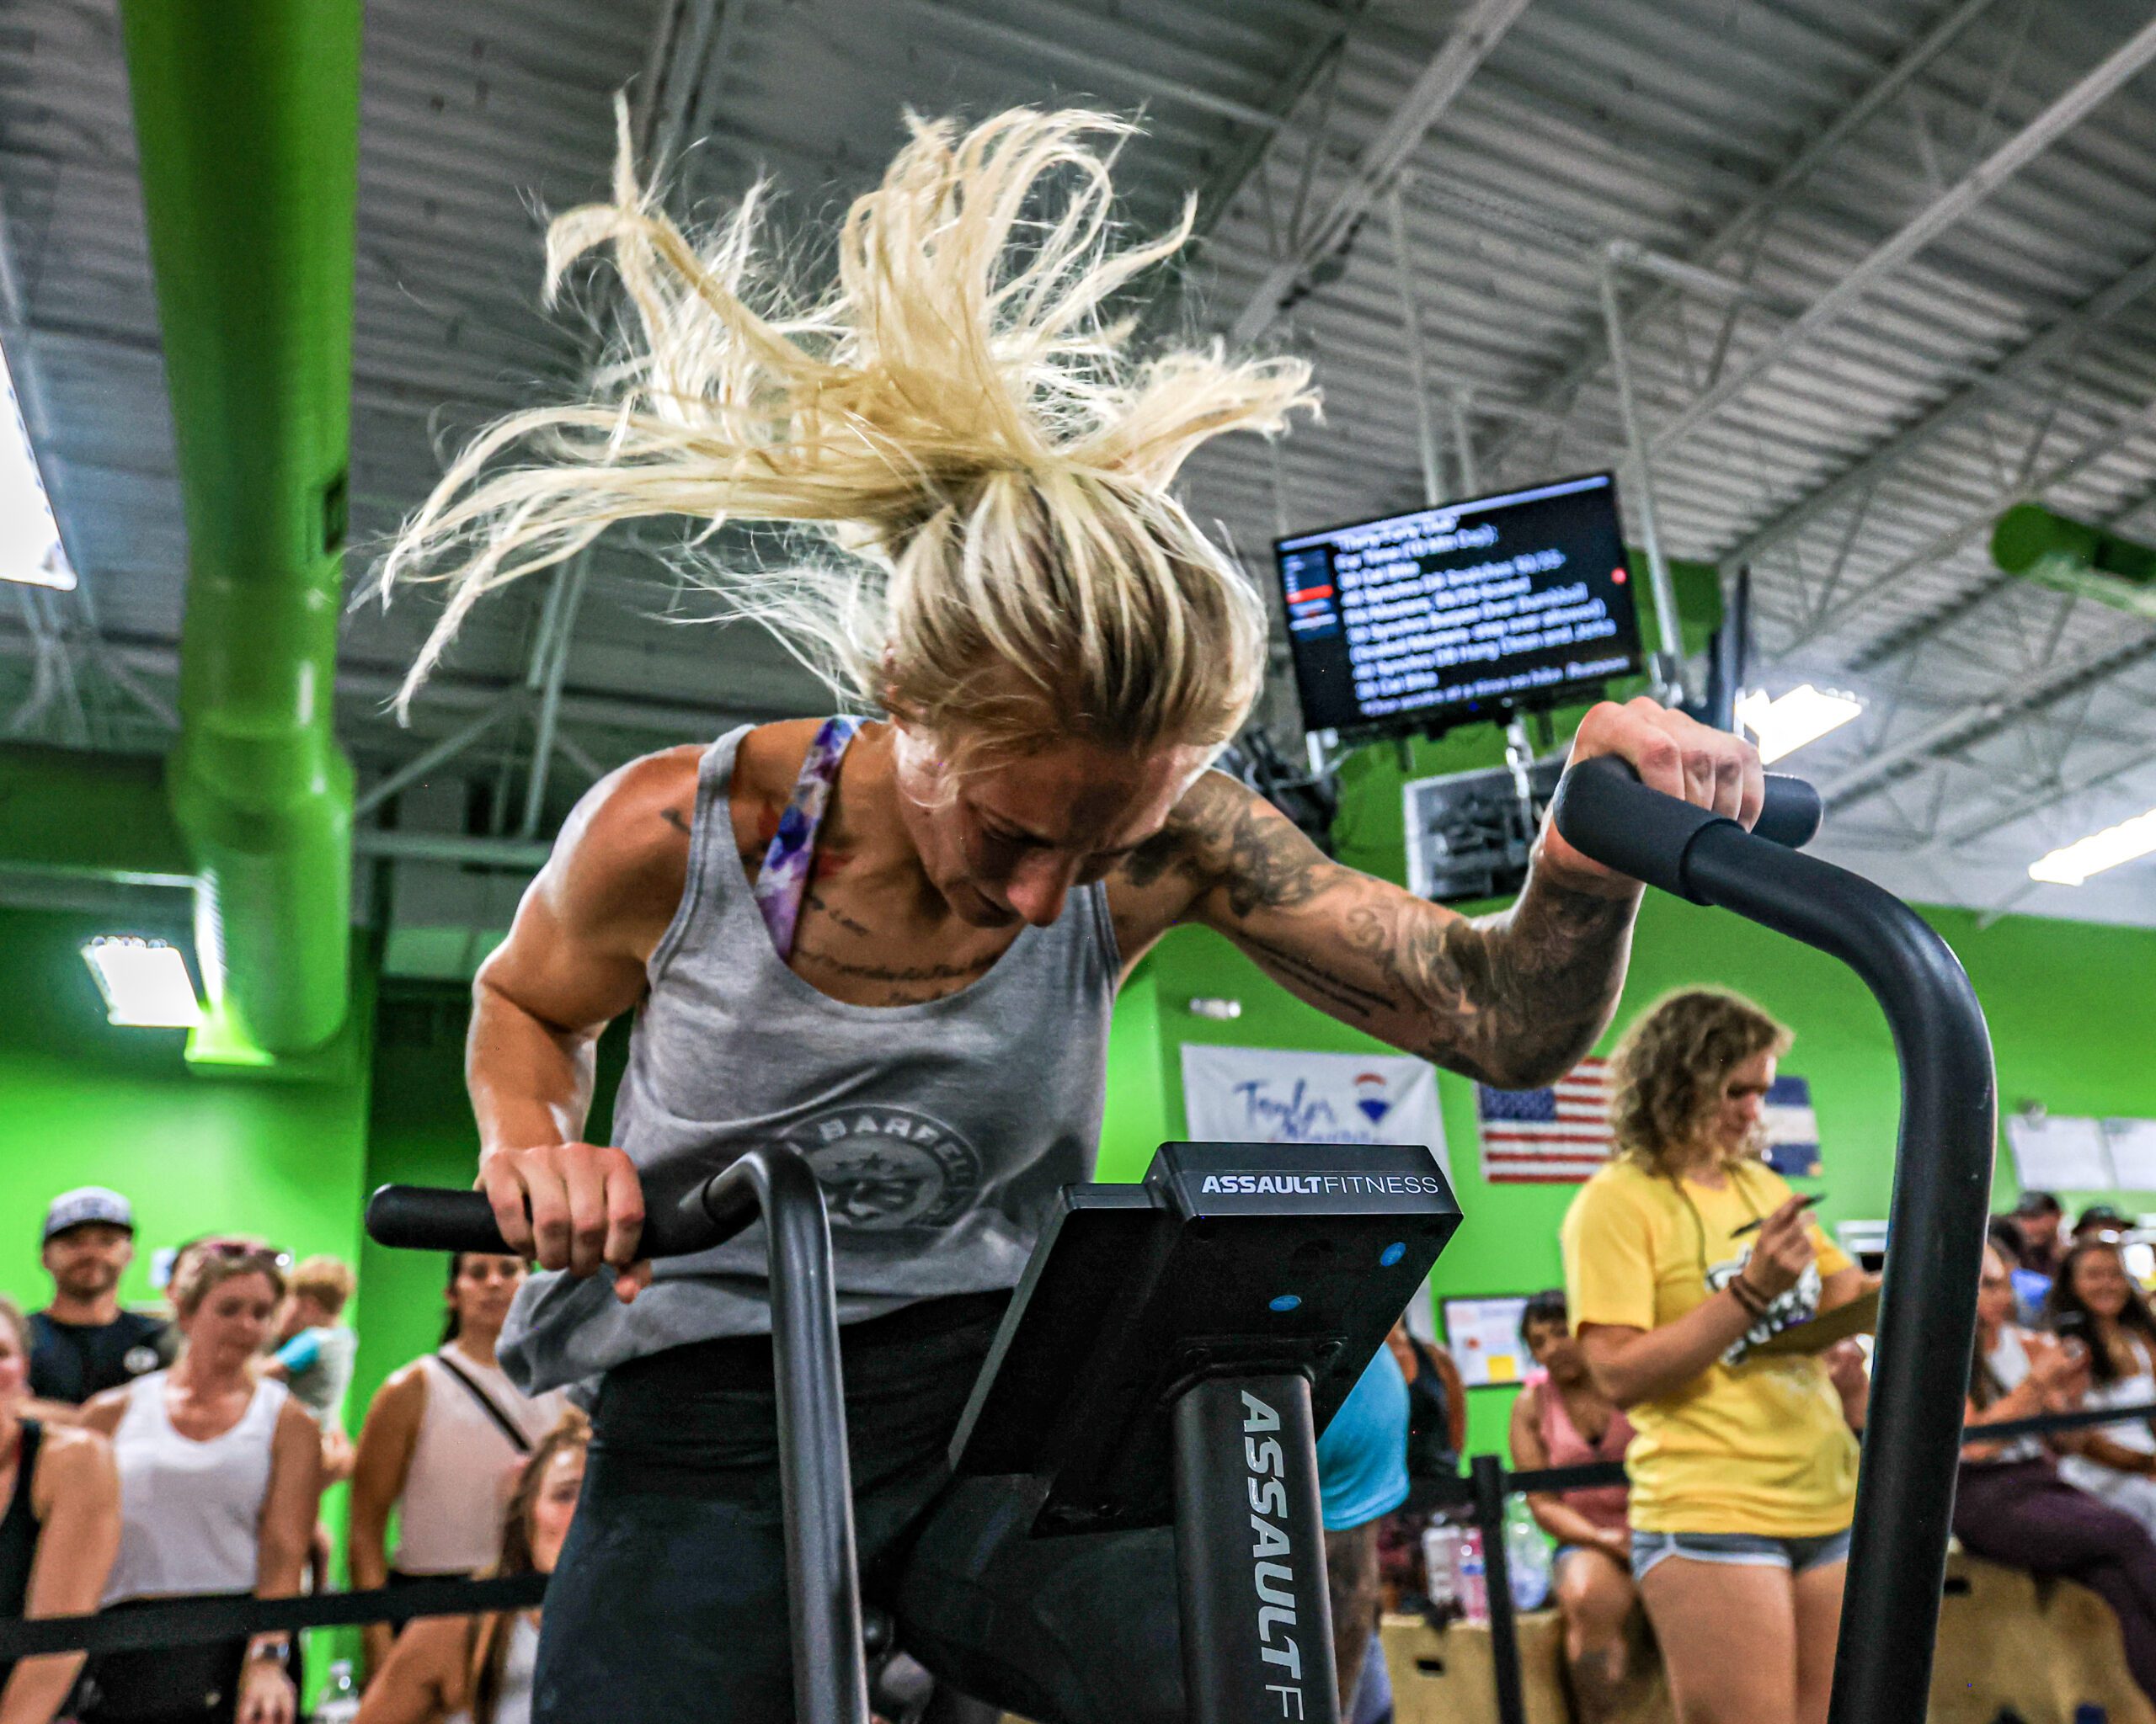
[[1393, 1709], [1378, 1649], [1378, 1524], [1408, 1500], [1408, 1384], [1388, 1347], [1378, 1349], [1317, 1440], [1317, 1489], [1341, 1718], [1369, 1724]]

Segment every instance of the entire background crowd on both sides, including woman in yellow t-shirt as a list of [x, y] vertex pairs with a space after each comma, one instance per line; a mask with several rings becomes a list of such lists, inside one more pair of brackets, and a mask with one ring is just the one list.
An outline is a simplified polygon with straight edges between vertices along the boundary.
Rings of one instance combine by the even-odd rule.
[[[1630, 1480], [1526, 1498], [1554, 1543], [1583, 1724], [1621, 1711], [1654, 1649], [1680, 1724], [1824, 1715], [1869, 1384], [1850, 1343], [1772, 1343], [1874, 1282], [1757, 1155], [1785, 1045], [1727, 993], [1673, 996], [1634, 1024], [1613, 1058], [1619, 1157], [1567, 1213], [1565, 1287], [1524, 1308], [1537, 1373], [1514, 1403], [1511, 1463], [1621, 1459]], [[2068, 1226], [2044, 1192], [1994, 1218], [1953, 1530], [2104, 1597], [2156, 1698], [2156, 1312], [2126, 1231], [2106, 1205]], [[522, 1261], [448, 1261], [440, 1347], [382, 1384], [354, 1440], [347, 1265], [203, 1237], [147, 1312], [119, 1302], [134, 1248], [125, 1196], [63, 1192], [43, 1226], [50, 1299], [26, 1317], [0, 1297], [0, 1616], [321, 1588], [321, 1491], [345, 1478], [354, 1588], [552, 1571], [589, 1427], [496, 1360]], [[1981, 1435], [2078, 1409], [2122, 1416]], [[1358, 1724], [1388, 1715], [1378, 1599], [1423, 1590], [1408, 1573], [1421, 1521], [1395, 1511], [1410, 1476], [1457, 1472], [1464, 1412], [1453, 1360], [1401, 1325], [1319, 1450], [1335, 1662]], [[1369, 1424], [1395, 1435], [1352, 1435]], [[528, 1724], [535, 1649], [537, 1612], [375, 1625], [358, 1724]], [[0, 1724], [291, 1724], [295, 1657], [285, 1633], [28, 1657], [0, 1666]]]

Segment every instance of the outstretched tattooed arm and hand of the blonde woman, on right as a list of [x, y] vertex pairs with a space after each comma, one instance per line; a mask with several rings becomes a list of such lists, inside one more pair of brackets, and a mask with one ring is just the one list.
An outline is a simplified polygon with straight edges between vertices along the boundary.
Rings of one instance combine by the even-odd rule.
[[[1574, 759], [1604, 752], [1656, 789], [1757, 817], [1757, 756], [1682, 713], [1595, 707]], [[1518, 903], [1468, 920], [1328, 862], [1218, 771], [1192, 784], [1125, 873], [1136, 892], [1179, 901], [1164, 920], [1218, 929], [1319, 1011], [1509, 1088], [1546, 1084], [1593, 1047], [1623, 987], [1639, 905], [1639, 886], [1544, 832]]]

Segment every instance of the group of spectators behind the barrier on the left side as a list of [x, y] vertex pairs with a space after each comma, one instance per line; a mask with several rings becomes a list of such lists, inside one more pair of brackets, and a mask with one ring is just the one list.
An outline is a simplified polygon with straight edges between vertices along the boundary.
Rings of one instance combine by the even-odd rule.
[[[149, 1312], [121, 1306], [134, 1252], [123, 1194], [63, 1192], [47, 1304], [0, 1299], [0, 1618], [321, 1588], [321, 1491], [343, 1478], [354, 1586], [552, 1569], [586, 1437], [558, 1394], [524, 1396], [496, 1364], [522, 1261], [448, 1261], [440, 1349], [390, 1375], [354, 1442], [349, 1265], [192, 1239]], [[524, 1724], [535, 1616], [436, 1618], [405, 1640], [367, 1642], [371, 1718]], [[26, 1657], [0, 1666], [0, 1724], [291, 1724], [295, 1666], [287, 1633]]]

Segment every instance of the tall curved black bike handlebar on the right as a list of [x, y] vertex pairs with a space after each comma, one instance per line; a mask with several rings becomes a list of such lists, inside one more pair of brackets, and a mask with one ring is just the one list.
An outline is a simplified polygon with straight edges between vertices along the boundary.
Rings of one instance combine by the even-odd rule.
[[1891, 892], [1649, 791], [1623, 761], [1567, 771], [1552, 817], [1583, 856], [1839, 957], [1887, 1013], [1902, 1131], [1828, 1718], [1923, 1718], [1996, 1153], [1984, 1009], [1947, 942]]

